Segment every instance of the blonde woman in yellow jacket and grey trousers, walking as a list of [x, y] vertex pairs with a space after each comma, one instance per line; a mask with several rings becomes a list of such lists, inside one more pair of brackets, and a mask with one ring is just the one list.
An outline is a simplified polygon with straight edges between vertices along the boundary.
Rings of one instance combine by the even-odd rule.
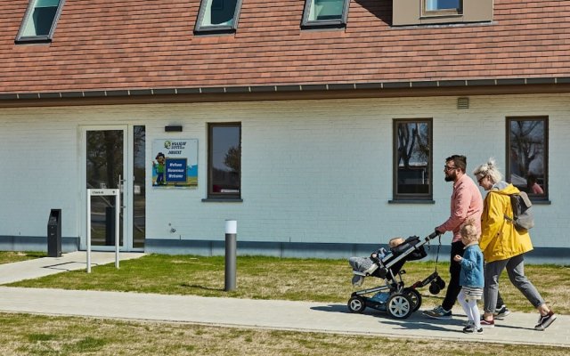
[[499, 276], [507, 270], [510, 282], [525, 295], [526, 299], [540, 312], [541, 317], [534, 327], [536, 330], [548, 328], [556, 320], [556, 314], [542, 299], [530, 280], [525, 276], [526, 252], [533, 249], [528, 231], [519, 231], [511, 221], [513, 209], [510, 195], [519, 190], [514, 185], [502, 181], [493, 158], [485, 165], [478, 166], [473, 174], [479, 185], [488, 191], [481, 215], [481, 239], [479, 247], [485, 257], [485, 313], [481, 325], [493, 327], [493, 312], [499, 291]]

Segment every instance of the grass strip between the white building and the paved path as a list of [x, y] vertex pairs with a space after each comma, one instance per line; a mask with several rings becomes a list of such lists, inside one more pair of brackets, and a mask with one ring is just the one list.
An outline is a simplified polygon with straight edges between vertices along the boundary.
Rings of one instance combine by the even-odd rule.
[[[403, 278], [407, 286], [435, 271], [434, 262], [409, 262]], [[437, 271], [449, 280], [449, 263], [438, 263]], [[525, 272], [547, 303], [557, 312], [570, 312], [570, 267], [527, 265]], [[97, 266], [92, 273], [68, 271], [41, 279], [28, 279], [9, 286], [53, 287], [67, 289], [113, 290], [170, 295], [229, 296], [251, 299], [283, 299], [346, 303], [354, 288], [352, 270], [346, 260], [295, 259], [262, 256], [237, 258], [237, 289], [224, 292], [224, 256], [146, 255]], [[367, 278], [362, 287], [375, 287], [381, 279]], [[420, 289], [422, 308], [441, 303], [444, 291], [431, 295], [428, 287]], [[533, 307], [513, 287], [506, 273], [501, 277], [501, 295], [509, 309], [533, 312]]]

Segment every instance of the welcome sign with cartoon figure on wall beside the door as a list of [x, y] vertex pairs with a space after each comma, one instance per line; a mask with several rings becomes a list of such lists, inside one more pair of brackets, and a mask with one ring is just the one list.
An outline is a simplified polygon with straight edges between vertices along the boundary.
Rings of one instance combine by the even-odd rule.
[[198, 187], [198, 139], [154, 140], [152, 158], [153, 187]]

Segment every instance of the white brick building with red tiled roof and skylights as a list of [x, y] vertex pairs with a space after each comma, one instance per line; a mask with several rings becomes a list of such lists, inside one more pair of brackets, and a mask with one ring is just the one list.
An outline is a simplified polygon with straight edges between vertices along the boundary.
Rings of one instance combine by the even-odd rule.
[[45, 248], [53, 208], [64, 250], [89, 224], [111, 249], [87, 190], [120, 184], [124, 250], [221, 254], [235, 219], [240, 253], [368, 253], [447, 218], [459, 153], [530, 192], [531, 258], [568, 262], [568, 1], [1, 4], [1, 249]]

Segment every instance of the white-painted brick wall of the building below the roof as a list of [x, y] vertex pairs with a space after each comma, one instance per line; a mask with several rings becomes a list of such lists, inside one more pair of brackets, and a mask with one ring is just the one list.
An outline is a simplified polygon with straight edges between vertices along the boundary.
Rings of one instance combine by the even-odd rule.
[[[147, 237], [224, 239], [238, 220], [242, 240], [386, 242], [425, 236], [449, 214], [452, 184], [444, 158], [468, 156], [468, 172], [493, 156], [505, 166], [505, 117], [549, 117], [550, 201], [536, 206], [537, 247], [570, 247], [562, 201], [570, 151], [568, 94], [330, 101], [264, 101], [139, 106], [2, 109], [0, 236], [45, 236], [49, 209], [63, 209], [63, 236], [83, 235], [78, 125], [146, 125]], [[433, 117], [435, 205], [388, 204], [392, 198], [392, 119]], [[243, 203], [204, 203], [207, 123], [242, 125]], [[183, 133], [165, 133], [183, 125]], [[199, 188], [153, 190], [153, 139], [199, 140]], [[171, 226], [176, 232], [170, 233]], [[449, 237], [448, 237], [449, 239]]]

